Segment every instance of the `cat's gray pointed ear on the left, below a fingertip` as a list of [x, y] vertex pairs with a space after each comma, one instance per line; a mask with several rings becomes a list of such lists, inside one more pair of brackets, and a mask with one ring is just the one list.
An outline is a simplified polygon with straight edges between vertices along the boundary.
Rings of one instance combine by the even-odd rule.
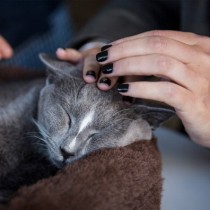
[[40, 53], [39, 58], [47, 67], [48, 82], [64, 77], [82, 79], [82, 64], [71, 64], [67, 61], [59, 60], [56, 56]]

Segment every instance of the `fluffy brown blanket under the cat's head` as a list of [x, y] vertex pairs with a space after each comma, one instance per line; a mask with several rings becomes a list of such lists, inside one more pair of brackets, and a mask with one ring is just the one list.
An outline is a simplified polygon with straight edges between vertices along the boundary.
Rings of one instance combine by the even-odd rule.
[[161, 158], [153, 139], [97, 151], [23, 187], [0, 209], [158, 210], [161, 190]]

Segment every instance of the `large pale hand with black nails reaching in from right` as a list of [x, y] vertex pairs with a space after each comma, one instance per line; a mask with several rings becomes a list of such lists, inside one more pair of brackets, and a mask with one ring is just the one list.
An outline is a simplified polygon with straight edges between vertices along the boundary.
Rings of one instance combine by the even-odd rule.
[[165, 102], [173, 106], [196, 143], [210, 147], [210, 38], [176, 31], [150, 31], [111, 43], [97, 54], [100, 78], [110, 87], [119, 76], [155, 75], [158, 82], [120, 84], [122, 95]]

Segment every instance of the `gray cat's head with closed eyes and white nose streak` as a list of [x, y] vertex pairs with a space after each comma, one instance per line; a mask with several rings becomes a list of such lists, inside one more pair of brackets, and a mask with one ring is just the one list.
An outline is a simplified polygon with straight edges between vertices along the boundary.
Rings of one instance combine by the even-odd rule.
[[37, 126], [50, 160], [70, 163], [102, 148], [150, 140], [152, 129], [174, 112], [139, 103], [127, 104], [115, 90], [100, 91], [82, 79], [82, 65], [41, 54], [47, 66], [40, 93]]

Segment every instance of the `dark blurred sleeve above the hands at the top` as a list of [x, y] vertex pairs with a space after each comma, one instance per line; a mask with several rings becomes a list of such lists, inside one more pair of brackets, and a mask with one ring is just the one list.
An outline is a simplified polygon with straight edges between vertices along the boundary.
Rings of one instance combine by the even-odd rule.
[[113, 41], [148, 30], [179, 28], [179, 0], [112, 0], [70, 44], [78, 48], [93, 39]]

